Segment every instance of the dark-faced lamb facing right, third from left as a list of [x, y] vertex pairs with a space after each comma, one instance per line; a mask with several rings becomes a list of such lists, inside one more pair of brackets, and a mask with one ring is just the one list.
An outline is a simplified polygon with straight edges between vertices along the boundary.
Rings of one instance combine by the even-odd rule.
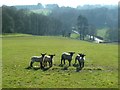
[[75, 54], [75, 52], [64, 52], [62, 53], [62, 56], [61, 56], [61, 65], [62, 65], [62, 61], [64, 60], [64, 64], [65, 64], [65, 60], [68, 60], [69, 62], [69, 66], [71, 66], [71, 61], [72, 61], [72, 56], [73, 54]]

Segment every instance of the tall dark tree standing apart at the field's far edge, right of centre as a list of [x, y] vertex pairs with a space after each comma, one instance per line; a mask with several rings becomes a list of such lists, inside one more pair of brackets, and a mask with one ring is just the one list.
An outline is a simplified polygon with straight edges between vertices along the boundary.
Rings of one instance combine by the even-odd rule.
[[86, 36], [88, 32], [88, 21], [87, 18], [79, 15], [77, 18], [77, 28], [80, 34], [80, 40], [84, 40], [84, 37]]

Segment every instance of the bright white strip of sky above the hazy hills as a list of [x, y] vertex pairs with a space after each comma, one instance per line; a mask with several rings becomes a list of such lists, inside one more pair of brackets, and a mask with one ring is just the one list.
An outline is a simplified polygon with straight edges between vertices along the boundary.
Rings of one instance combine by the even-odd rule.
[[2, 5], [37, 5], [41, 3], [45, 4], [58, 4], [59, 6], [71, 6], [76, 7], [84, 4], [107, 4], [118, 5], [119, 0], [0, 0], [0, 6]]

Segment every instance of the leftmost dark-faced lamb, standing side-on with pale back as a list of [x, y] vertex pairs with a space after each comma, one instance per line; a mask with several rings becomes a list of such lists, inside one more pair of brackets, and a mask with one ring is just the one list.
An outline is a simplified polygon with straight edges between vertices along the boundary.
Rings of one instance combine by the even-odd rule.
[[40, 67], [43, 68], [42, 62], [43, 62], [43, 58], [45, 55], [46, 55], [46, 53], [44, 53], [44, 54], [41, 53], [41, 56], [32, 56], [31, 62], [30, 62], [30, 67], [33, 67], [34, 62], [40, 62]]

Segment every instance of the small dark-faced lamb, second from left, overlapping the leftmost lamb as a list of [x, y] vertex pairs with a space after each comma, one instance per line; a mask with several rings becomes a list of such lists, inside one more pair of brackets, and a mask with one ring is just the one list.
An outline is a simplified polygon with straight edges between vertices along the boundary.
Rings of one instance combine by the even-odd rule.
[[49, 67], [52, 67], [53, 65], [53, 57], [55, 56], [55, 54], [53, 55], [46, 55], [43, 59], [43, 63], [44, 63], [44, 67], [47, 66], [47, 62], [49, 63]]

